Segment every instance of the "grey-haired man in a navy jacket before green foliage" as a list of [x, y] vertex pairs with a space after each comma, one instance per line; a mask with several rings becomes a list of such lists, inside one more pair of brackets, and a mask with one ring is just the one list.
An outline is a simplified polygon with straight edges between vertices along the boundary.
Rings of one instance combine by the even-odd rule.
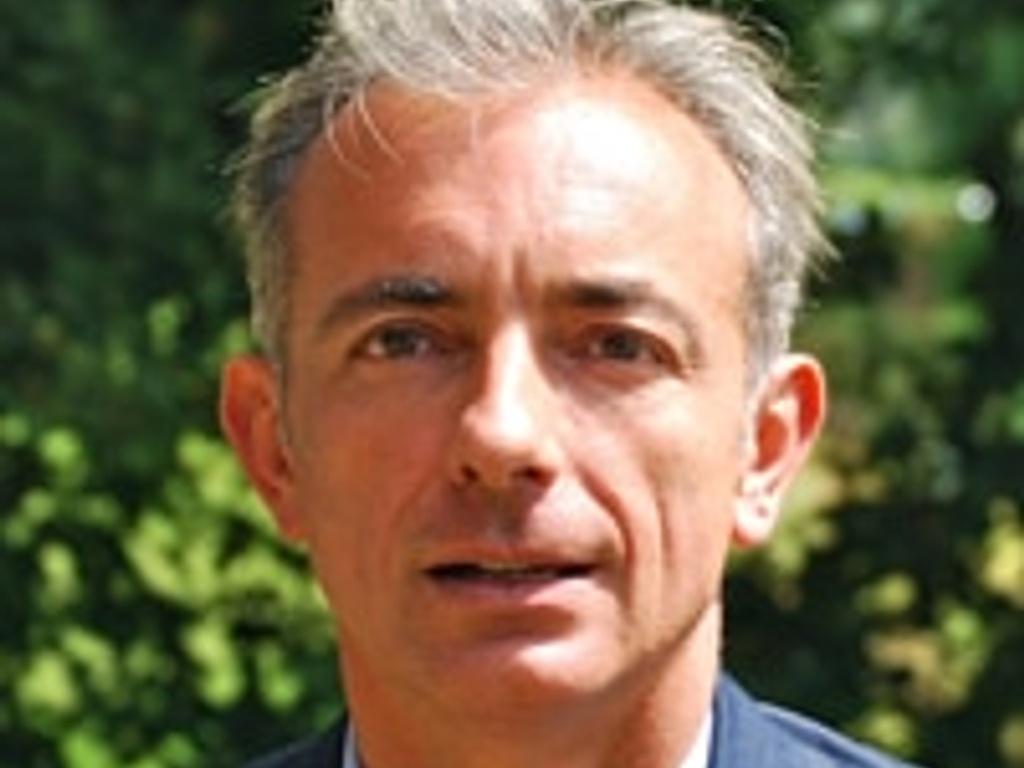
[[240, 167], [222, 419], [350, 717], [260, 766], [885, 766], [720, 672], [824, 410], [801, 119], [659, 3], [339, 3]]

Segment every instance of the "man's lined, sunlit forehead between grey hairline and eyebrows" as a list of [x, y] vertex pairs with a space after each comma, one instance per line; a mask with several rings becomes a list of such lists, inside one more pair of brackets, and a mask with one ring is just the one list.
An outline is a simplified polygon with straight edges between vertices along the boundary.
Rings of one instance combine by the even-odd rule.
[[607, 76], [457, 101], [373, 86], [308, 151], [288, 218], [301, 272], [332, 244], [339, 260], [394, 260], [423, 250], [401, 239], [449, 233], [478, 255], [495, 255], [496, 233], [524, 252], [572, 246], [559, 255], [573, 261], [611, 242], [626, 255], [634, 230], [678, 236], [680, 259], [745, 253], [746, 209], [695, 121], [649, 86]]

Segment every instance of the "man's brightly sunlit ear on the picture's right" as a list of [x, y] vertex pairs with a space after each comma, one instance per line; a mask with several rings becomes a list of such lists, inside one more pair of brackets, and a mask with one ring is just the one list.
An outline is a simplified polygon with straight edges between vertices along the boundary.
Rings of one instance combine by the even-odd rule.
[[807, 460], [825, 414], [825, 379], [803, 354], [778, 358], [753, 402], [733, 541], [754, 547], [771, 536], [782, 498]]

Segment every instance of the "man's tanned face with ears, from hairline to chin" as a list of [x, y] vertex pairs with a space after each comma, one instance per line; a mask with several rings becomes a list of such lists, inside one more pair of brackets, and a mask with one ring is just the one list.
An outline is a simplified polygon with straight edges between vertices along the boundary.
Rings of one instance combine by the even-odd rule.
[[706, 657], [807, 432], [794, 367], [745, 387], [740, 184], [627, 81], [366, 110], [290, 200], [287, 383], [225, 380], [352, 695], [610, 696]]

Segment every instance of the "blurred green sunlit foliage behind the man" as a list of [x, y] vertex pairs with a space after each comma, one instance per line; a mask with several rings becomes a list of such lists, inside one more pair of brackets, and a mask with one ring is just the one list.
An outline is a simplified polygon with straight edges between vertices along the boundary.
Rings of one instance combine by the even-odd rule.
[[[1024, 4], [715, 4], [784, 35], [844, 254], [802, 338], [828, 436], [736, 563], [730, 666], [925, 763], [1024, 766]], [[337, 712], [214, 419], [237, 103], [317, 12], [0, 0], [2, 765], [238, 765]]]

